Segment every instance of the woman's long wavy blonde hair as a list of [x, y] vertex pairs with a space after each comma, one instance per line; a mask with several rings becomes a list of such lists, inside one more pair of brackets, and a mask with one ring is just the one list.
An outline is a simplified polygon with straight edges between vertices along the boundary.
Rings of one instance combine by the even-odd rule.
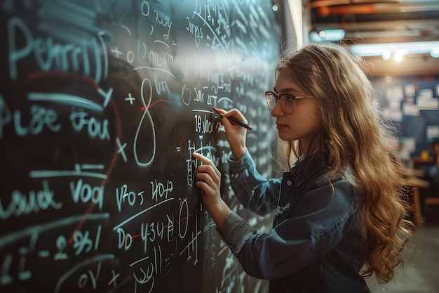
[[[355, 179], [347, 178], [360, 191], [367, 256], [363, 277], [373, 273], [381, 284], [393, 279], [403, 265], [401, 252], [413, 225], [401, 194], [405, 181], [402, 165], [393, 155], [391, 124], [381, 119], [372, 104], [374, 91], [363, 58], [336, 44], [309, 44], [291, 56], [283, 56], [276, 72], [288, 74], [307, 95], [315, 97], [323, 130], [313, 144], [332, 170], [330, 176], [350, 167]], [[300, 141], [288, 142], [286, 162], [303, 150]]]

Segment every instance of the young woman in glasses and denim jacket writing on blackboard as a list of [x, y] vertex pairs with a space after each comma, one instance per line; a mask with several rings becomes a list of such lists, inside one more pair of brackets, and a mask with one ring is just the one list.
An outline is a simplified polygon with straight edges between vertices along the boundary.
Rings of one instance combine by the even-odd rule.
[[[229, 209], [221, 174], [194, 153], [203, 163], [196, 186], [217, 230], [249, 275], [270, 280], [270, 292], [370, 292], [364, 278], [389, 282], [402, 264], [412, 230], [404, 181], [362, 62], [341, 46], [309, 44], [278, 63], [266, 101], [288, 143], [285, 162], [295, 158], [282, 178], [263, 178], [245, 128], [222, 119], [231, 186], [248, 209], [275, 211], [271, 233], [257, 233]], [[223, 115], [245, 121], [236, 109]]]

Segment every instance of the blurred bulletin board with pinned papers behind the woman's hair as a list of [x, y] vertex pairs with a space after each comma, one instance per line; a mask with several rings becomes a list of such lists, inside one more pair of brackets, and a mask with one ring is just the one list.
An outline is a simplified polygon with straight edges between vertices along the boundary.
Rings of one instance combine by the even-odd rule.
[[377, 107], [411, 157], [439, 138], [439, 76], [374, 77]]

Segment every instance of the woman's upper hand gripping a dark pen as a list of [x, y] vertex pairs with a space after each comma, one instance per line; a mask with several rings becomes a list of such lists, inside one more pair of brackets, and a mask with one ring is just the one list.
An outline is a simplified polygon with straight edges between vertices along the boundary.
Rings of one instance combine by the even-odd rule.
[[244, 123], [247, 123], [244, 115], [238, 109], [232, 109], [229, 111], [221, 110], [222, 115], [224, 116], [221, 119], [221, 123], [226, 128], [226, 137], [227, 141], [229, 141], [232, 157], [235, 161], [241, 159], [247, 148], [245, 146], [245, 136], [247, 135], [247, 129], [245, 127], [238, 125], [231, 120], [227, 119], [227, 117], [235, 117], [238, 120], [241, 120]]

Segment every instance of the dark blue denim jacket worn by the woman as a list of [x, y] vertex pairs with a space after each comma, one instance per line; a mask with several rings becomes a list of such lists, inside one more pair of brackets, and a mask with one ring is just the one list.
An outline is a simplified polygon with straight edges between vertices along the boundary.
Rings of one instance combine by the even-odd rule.
[[359, 274], [366, 247], [358, 191], [340, 175], [331, 186], [322, 162], [310, 155], [267, 180], [248, 152], [238, 162], [229, 157], [238, 200], [259, 215], [273, 212], [274, 221], [269, 234], [257, 233], [232, 211], [219, 233], [245, 272], [270, 280], [270, 292], [370, 292]]

